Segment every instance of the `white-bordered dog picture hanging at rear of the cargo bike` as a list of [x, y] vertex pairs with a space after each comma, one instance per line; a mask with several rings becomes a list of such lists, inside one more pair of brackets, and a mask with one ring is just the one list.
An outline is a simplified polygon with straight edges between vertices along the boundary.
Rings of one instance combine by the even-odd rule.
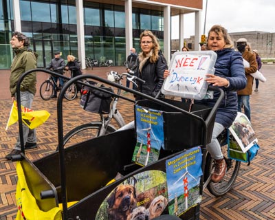
[[236, 116], [233, 124], [230, 126], [229, 131], [234, 136], [243, 153], [248, 151], [258, 142], [250, 120], [244, 113], [238, 112], [238, 115]]

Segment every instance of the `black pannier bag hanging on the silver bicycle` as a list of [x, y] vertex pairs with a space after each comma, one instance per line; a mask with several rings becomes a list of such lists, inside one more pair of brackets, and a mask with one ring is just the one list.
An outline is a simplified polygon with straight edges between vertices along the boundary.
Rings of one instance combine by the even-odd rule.
[[[104, 87], [104, 85], [100, 85], [93, 81], [87, 81], [87, 83], [113, 92], [111, 87]], [[80, 106], [83, 107], [84, 110], [100, 114], [108, 114], [110, 112], [110, 104], [112, 101], [111, 94], [87, 86], [84, 87], [82, 94]]]

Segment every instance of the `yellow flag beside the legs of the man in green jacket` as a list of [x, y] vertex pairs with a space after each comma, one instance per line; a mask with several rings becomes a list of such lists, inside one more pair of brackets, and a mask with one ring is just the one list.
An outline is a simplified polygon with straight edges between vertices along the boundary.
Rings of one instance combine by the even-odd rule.
[[[37, 126], [43, 124], [49, 117], [50, 113], [45, 110], [33, 111], [21, 105], [22, 111], [22, 121], [30, 128], [35, 129]], [[8, 127], [18, 121], [18, 111], [17, 111], [17, 102], [14, 101], [12, 104], [12, 109], [10, 111], [10, 117], [8, 119], [7, 126], [5, 131], [8, 130]]]

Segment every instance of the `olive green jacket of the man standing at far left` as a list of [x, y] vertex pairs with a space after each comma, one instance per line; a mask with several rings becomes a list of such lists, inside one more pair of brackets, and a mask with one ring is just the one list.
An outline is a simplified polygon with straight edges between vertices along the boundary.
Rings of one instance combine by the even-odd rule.
[[[27, 47], [14, 50], [15, 56], [10, 67], [10, 94], [14, 96], [17, 92], [17, 81], [20, 76], [30, 69], [36, 69], [36, 55], [29, 51]], [[36, 93], [36, 72], [24, 77], [20, 86], [21, 91], [30, 91]]]

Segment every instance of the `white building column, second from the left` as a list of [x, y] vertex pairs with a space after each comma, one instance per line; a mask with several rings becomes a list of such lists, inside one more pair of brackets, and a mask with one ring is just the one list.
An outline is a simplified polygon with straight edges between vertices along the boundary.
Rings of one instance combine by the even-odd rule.
[[81, 69], [86, 68], [85, 64], [85, 34], [84, 34], [84, 14], [83, 1], [76, 0], [76, 23], [78, 35], [78, 59], [81, 62]]

